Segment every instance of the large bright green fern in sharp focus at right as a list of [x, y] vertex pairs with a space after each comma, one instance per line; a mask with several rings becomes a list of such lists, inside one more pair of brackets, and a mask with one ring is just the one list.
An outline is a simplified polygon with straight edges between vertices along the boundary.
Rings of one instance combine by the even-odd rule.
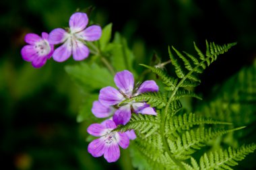
[[[201, 114], [186, 114], [180, 112], [183, 97], [195, 97], [201, 99], [191, 87], [196, 87], [201, 82], [199, 74], [210, 65], [218, 55], [227, 52], [236, 43], [217, 45], [206, 41], [206, 52], [203, 54], [195, 45], [198, 56], [187, 52], [179, 52], [172, 47], [176, 55], [169, 48], [169, 55], [174, 66], [176, 77], [169, 76], [164, 70], [148, 65], [142, 65], [156, 73], [162, 83], [166, 85], [166, 91], [157, 93], [142, 93], [131, 99], [123, 101], [146, 101], [152, 107], [157, 108], [157, 116], [133, 115], [126, 124], [116, 130], [134, 129], [137, 138], [134, 142], [133, 153], [143, 157], [148, 162], [145, 167], [135, 165], [139, 169], [231, 169], [236, 165], [235, 161], [241, 161], [245, 155], [255, 150], [255, 145], [241, 146], [241, 148], [214, 151], [210, 156], [205, 154], [201, 157], [199, 165], [193, 154], [210, 140], [219, 136], [241, 130], [245, 126], [236, 128], [230, 120], [219, 119], [218, 116], [211, 118]], [[176, 115], [178, 114], [178, 115]], [[218, 128], [219, 126], [219, 128]], [[214, 155], [214, 156], [213, 156]], [[134, 159], [137, 159], [135, 156]], [[191, 159], [191, 165], [185, 160]]]

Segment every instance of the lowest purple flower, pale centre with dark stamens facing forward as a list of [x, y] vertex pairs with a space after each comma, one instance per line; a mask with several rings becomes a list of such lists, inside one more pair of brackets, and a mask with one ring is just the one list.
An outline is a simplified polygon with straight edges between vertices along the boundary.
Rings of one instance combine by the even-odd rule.
[[112, 120], [104, 121], [102, 124], [91, 124], [87, 132], [92, 136], [100, 136], [100, 138], [90, 142], [88, 153], [93, 157], [101, 157], [108, 163], [115, 162], [120, 157], [120, 149], [129, 146], [129, 138], [124, 132], [111, 132], [117, 128], [117, 125]]

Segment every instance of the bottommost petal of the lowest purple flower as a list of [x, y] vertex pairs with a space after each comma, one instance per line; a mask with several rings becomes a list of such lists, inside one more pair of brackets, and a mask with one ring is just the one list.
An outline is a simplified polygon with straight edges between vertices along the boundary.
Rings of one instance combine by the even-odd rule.
[[108, 163], [113, 163], [117, 161], [120, 157], [120, 149], [117, 143], [110, 144], [108, 148], [106, 148], [104, 153], [104, 159], [108, 161]]

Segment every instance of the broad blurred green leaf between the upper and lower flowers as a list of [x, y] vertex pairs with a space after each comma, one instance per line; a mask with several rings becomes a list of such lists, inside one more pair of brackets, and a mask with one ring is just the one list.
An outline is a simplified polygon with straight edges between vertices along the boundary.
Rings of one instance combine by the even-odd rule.
[[99, 67], [95, 63], [90, 65], [88, 62], [82, 62], [80, 65], [66, 66], [65, 71], [87, 92], [99, 90], [106, 86], [115, 87], [113, 76], [107, 69]]

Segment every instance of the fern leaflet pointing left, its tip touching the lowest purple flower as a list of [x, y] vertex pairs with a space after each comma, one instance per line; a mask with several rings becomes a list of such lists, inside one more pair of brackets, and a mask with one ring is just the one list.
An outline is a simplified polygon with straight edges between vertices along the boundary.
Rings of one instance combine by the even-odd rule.
[[150, 136], [160, 128], [158, 116], [133, 114], [131, 120], [125, 125], [119, 125], [113, 131], [125, 132], [134, 129], [135, 132], [145, 134], [145, 137]]

